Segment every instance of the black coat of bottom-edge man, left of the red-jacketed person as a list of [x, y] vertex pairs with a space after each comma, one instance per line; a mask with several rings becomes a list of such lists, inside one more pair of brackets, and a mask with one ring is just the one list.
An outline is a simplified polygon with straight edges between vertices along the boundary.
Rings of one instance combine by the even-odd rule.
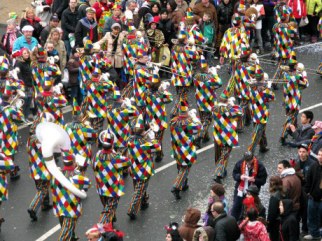
[[239, 239], [240, 230], [235, 218], [223, 212], [210, 224], [215, 230], [214, 241], [235, 241]]

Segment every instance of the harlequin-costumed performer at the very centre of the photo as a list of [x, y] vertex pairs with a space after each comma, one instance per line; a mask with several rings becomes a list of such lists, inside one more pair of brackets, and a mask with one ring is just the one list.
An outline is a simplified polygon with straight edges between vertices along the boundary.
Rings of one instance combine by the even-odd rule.
[[159, 75], [154, 72], [150, 83], [150, 87], [146, 94], [146, 112], [147, 123], [156, 123], [158, 131], [156, 132], [156, 140], [161, 145], [161, 151], [156, 153], [155, 161], [160, 162], [163, 158], [162, 140], [163, 134], [167, 123], [167, 113], [165, 110], [165, 104], [173, 101], [172, 94], [167, 91], [167, 87], [170, 85], [168, 82], [162, 82]]

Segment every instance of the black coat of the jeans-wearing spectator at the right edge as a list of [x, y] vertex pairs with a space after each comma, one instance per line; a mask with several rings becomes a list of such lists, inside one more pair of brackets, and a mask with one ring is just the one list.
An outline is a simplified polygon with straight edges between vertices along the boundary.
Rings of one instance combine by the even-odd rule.
[[306, 175], [305, 192], [316, 202], [322, 199], [322, 191], [320, 189], [321, 175], [322, 166], [318, 162], [310, 166]]

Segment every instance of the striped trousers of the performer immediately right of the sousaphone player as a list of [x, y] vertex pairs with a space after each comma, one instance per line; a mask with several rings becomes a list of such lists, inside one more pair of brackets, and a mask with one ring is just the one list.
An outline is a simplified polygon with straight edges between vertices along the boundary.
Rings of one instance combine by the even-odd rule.
[[101, 212], [99, 223], [112, 223], [113, 218], [116, 216], [116, 209], [120, 201], [119, 197], [106, 197], [100, 196], [103, 204], [103, 211]]

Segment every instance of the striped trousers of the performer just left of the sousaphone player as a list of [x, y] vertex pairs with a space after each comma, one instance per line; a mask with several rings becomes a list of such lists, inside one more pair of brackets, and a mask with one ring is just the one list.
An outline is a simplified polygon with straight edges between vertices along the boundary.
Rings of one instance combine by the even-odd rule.
[[33, 210], [35, 213], [39, 210], [41, 206], [49, 205], [49, 185], [48, 180], [35, 180], [35, 185], [37, 193], [29, 205], [29, 209]]

